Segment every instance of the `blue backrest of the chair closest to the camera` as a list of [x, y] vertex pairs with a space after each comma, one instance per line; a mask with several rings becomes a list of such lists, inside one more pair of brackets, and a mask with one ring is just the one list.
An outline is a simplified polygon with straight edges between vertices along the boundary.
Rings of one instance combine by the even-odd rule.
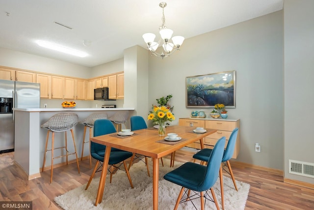
[[226, 137], [221, 137], [212, 149], [207, 164], [206, 174], [203, 182], [198, 186], [198, 191], [210, 189], [218, 179], [219, 169], [221, 166], [222, 155], [224, 154]]

